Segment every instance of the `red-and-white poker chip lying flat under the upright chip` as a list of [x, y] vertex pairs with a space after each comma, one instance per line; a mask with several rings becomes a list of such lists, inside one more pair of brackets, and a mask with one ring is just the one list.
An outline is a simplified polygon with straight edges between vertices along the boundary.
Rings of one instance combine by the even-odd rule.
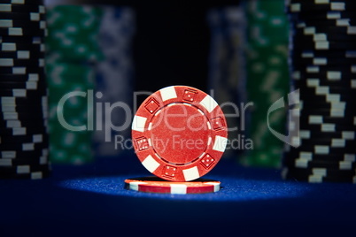
[[170, 182], [157, 177], [136, 178], [125, 180], [125, 188], [143, 193], [156, 194], [206, 194], [220, 190], [221, 182], [199, 179], [190, 182]]

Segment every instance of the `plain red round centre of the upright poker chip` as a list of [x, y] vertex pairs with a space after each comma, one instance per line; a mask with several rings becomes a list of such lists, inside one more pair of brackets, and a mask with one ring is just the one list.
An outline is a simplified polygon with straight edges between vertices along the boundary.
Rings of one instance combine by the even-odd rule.
[[208, 146], [209, 120], [188, 103], [171, 103], [151, 119], [151, 145], [168, 164], [190, 164]]

